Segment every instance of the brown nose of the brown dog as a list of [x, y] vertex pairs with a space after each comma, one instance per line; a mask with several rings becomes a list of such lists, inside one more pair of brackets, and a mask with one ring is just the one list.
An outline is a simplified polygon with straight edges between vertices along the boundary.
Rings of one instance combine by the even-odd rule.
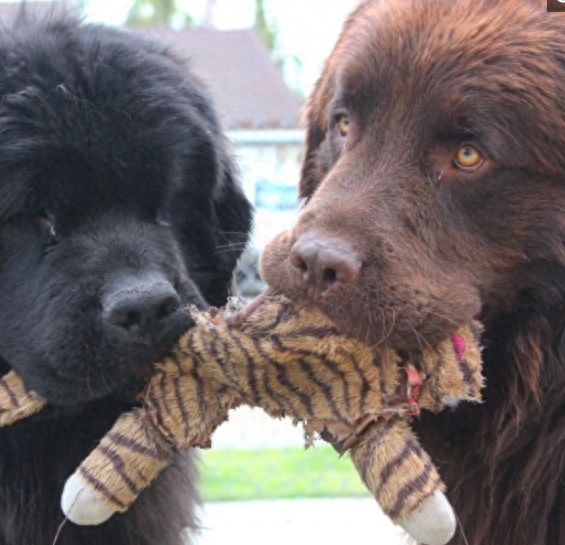
[[338, 283], [354, 282], [361, 269], [361, 260], [349, 244], [316, 235], [298, 238], [290, 250], [290, 262], [300, 288], [314, 297]]

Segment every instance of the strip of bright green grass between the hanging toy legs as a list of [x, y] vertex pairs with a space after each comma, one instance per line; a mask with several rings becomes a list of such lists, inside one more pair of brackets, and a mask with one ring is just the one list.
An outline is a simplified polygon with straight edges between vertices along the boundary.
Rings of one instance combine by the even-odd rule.
[[366, 496], [348, 456], [328, 445], [202, 451], [206, 501]]

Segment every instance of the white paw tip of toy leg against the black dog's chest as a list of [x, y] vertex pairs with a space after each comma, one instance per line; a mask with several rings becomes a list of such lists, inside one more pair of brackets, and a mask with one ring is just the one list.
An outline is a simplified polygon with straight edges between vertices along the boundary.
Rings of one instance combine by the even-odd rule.
[[77, 473], [71, 475], [65, 483], [61, 509], [71, 522], [80, 525], [101, 524], [115, 513], [94, 495], [90, 486]]

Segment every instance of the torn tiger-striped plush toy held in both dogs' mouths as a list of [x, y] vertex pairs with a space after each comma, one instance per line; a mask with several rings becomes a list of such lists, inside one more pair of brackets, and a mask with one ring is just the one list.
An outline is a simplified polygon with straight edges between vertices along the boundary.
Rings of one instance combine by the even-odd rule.
[[[302, 422], [307, 442], [319, 433], [349, 451], [394, 522], [421, 543], [449, 541], [455, 517], [444, 485], [406, 421], [420, 408], [480, 400], [478, 325], [434, 349], [400, 353], [347, 337], [319, 311], [282, 297], [249, 309], [231, 325], [221, 312], [192, 310], [196, 327], [156, 365], [143, 408], [122, 415], [67, 481], [70, 520], [98, 524], [125, 511], [174, 448], [209, 447], [229, 409], [246, 404]], [[14, 373], [0, 381], [0, 425], [43, 403]]]

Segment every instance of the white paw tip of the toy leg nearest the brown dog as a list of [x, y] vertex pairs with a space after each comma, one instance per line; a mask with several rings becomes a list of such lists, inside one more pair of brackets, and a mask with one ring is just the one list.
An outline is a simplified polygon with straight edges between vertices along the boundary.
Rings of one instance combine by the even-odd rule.
[[455, 534], [455, 513], [441, 490], [426, 498], [399, 525], [418, 543], [445, 545]]

